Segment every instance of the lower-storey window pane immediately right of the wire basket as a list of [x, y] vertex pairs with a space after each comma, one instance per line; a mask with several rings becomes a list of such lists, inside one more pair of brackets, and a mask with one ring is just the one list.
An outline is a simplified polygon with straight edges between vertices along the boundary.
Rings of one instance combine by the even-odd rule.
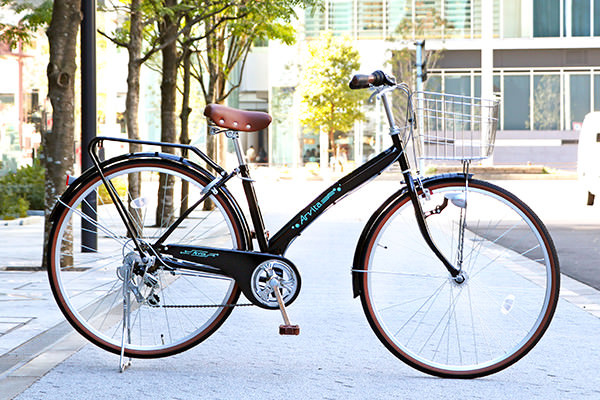
[[529, 75], [504, 77], [504, 129], [529, 129]]

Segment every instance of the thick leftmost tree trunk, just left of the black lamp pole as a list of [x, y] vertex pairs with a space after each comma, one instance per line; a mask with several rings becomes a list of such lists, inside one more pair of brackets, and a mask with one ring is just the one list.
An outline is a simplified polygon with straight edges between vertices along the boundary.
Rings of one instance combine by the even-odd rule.
[[[43, 164], [46, 168], [44, 243], [50, 231], [48, 217], [56, 199], [66, 189], [66, 175], [73, 174], [75, 132], [75, 57], [77, 32], [81, 22], [79, 0], [55, 0], [52, 21], [46, 32], [50, 46], [48, 97], [52, 104], [52, 130], [42, 136]], [[66, 241], [68, 242], [68, 241]], [[46, 246], [42, 264], [46, 264]], [[64, 262], [72, 264], [72, 248], [62, 249]]]

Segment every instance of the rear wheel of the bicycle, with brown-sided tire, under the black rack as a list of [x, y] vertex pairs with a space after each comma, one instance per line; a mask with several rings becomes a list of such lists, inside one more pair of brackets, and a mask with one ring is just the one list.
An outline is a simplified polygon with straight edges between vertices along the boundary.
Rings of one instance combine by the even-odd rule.
[[[134, 218], [138, 222], [136, 229], [141, 241], [148, 243], [164, 232], [173, 216], [179, 215], [181, 199], [193, 204], [214, 179], [208, 173], [164, 158], [131, 158], [105, 167], [104, 174], [128, 212], [139, 216]], [[141, 182], [135, 198], [131, 195], [135, 185], [130, 187], [128, 183], [130, 176], [139, 177]], [[174, 275], [157, 265], [152, 274], [144, 276], [152, 275], [158, 283], [148, 284], [142, 274], [131, 274], [128, 282], [137, 287], [141, 297], [137, 298], [127, 285], [127, 301], [131, 304], [125, 317], [124, 269], [119, 267], [125, 264], [126, 255], [134, 257], [135, 249], [100, 175], [87, 173], [81, 179], [74, 184], [75, 190], [67, 191], [57, 203], [46, 253], [52, 292], [71, 325], [90, 342], [115, 354], [120, 354], [125, 337], [125, 356], [136, 358], [173, 355], [214, 333], [240, 295], [235, 281], [220, 275]], [[158, 180], [173, 185], [172, 207], [157, 198]], [[188, 182], [187, 196], [179, 190], [182, 182]], [[98, 232], [96, 251], [81, 238], [82, 225], [88, 220], [81, 208], [92, 201], [90, 198], [98, 202], [97, 222], [93, 223]], [[166, 243], [247, 249], [244, 225], [228, 193], [221, 189], [210, 199], [212, 210], [197, 207]]]

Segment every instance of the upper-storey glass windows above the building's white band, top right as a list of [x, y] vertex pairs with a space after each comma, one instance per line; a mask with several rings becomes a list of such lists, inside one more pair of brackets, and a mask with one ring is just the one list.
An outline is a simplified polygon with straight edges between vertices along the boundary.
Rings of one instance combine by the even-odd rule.
[[[308, 38], [330, 30], [357, 39], [398, 37], [410, 22], [410, 36], [476, 39], [481, 37], [483, 1], [493, 2], [494, 37], [600, 36], [600, 0], [325, 0], [324, 9], [307, 10]], [[443, 24], [424, 24], [435, 16]]]

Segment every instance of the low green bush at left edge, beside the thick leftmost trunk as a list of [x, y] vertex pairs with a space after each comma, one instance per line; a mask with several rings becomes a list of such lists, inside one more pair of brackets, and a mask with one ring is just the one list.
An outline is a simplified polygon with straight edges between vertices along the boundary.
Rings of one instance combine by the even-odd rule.
[[44, 209], [44, 168], [38, 161], [0, 178], [0, 219], [24, 217]]

